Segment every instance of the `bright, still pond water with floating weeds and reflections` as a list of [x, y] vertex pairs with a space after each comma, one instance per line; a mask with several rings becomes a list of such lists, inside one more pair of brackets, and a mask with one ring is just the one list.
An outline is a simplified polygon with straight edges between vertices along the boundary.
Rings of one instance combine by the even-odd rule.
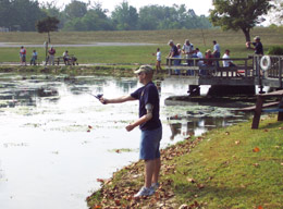
[[[139, 145], [139, 130], [125, 131], [138, 102], [103, 106], [91, 94], [110, 98], [139, 86], [136, 78], [0, 74], [0, 208], [87, 208], [97, 179], [137, 161]], [[165, 106], [187, 86], [160, 86], [162, 148], [245, 120], [227, 108]]]

